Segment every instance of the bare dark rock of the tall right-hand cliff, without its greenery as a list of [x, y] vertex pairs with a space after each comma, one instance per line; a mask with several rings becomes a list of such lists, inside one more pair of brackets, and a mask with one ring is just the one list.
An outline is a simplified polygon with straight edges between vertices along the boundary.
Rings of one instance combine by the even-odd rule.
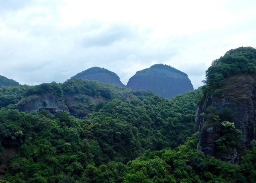
[[[225, 81], [221, 94], [208, 96], [198, 105], [195, 118], [195, 131], [201, 132], [199, 137], [199, 150], [210, 156], [215, 156], [230, 163], [237, 163], [241, 151], [233, 151], [219, 155], [216, 151], [216, 140], [220, 131], [213, 123], [207, 123], [202, 113], [207, 113], [209, 106], [216, 109], [227, 108], [234, 114], [234, 123], [244, 137], [244, 150], [256, 134], [256, 80], [252, 76], [233, 76]], [[218, 154], [218, 155], [217, 155]]]

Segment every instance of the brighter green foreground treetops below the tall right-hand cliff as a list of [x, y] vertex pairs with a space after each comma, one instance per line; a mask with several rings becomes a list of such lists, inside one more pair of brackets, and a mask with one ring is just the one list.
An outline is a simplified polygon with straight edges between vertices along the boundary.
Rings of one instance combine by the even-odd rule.
[[[197, 142], [188, 140], [175, 151], [147, 151], [143, 156], [128, 162], [125, 183], [238, 183], [250, 182], [243, 174], [242, 165], [206, 158], [195, 150]], [[251, 154], [252, 155], [252, 154]], [[250, 164], [251, 165], [251, 164]], [[252, 168], [250, 168], [252, 171]]]

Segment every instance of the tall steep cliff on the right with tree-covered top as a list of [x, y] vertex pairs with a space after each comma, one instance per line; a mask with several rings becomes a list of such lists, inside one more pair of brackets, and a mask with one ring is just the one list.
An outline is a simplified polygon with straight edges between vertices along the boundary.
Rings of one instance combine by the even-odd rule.
[[250, 69], [256, 61], [247, 49], [230, 50], [213, 62], [196, 109], [198, 149], [230, 163], [238, 163], [256, 138], [256, 75]]

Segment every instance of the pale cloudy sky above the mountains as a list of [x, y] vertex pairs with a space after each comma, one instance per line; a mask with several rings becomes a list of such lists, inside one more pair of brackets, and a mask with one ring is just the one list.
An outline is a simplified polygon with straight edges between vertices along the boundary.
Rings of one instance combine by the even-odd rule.
[[255, 0], [0, 0], [0, 75], [64, 82], [90, 67], [124, 84], [163, 63], [202, 85], [212, 61], [256, 47]]

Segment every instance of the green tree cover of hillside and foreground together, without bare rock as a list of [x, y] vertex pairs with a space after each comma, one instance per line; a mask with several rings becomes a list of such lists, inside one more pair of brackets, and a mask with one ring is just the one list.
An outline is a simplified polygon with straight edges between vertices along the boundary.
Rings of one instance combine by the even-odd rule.
[[[44, 93], [73, 96], [77, 103], [90, 103], [92, 97], [104, 100], [84, 119], [67, 111], [28, 114], [3, 105], [0, 150], [15, 148], [17, 154], [0, 160], [8, 167], [0, 182], [255, 182], [254, 143], [240, 165], [204, 157], [196, 150], [197, 134], [192, 135], [191, 129], [201, 89], [168, 100], [147, 91], [71, 79], [63, 84], [5, 87], [1, 92], [13, 92], [17, 100]], [[207, 120], [218, 124], [223, 133], [233, 133], [221, 143], [234, 145], [238, 134], [231, 123], [233, 115], [214, 107], [208, 110]]]

